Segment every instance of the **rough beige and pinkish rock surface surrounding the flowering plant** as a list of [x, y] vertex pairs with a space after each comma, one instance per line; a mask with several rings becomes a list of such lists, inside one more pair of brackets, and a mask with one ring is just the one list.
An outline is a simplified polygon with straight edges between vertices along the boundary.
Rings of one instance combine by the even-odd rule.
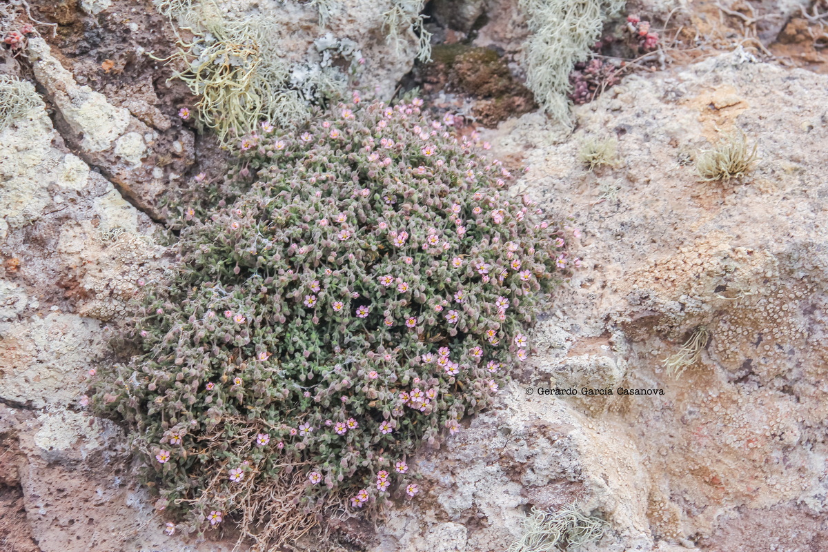
[[[677, 8], [712, 36], [707, 7], [692, 3], [635, 8], [661, 21]], [[742, 4], [729, 9], [749, 13]], [[757, 15], [773, 16], [756, 29], [764, 44], [802, 4], [757, 3]], [[310, 4], [222, 5], [282, 17], [295, 60], [318, 38]], [[335, 2], [327, 27], [360, 42], [365, 83], [381, 94], [414, 57], [412, 40], [392, 53], [379, 34], [390, 5]], [[474, 45], [519, 53], [515, 2], [464, 6], [450, 25], [470, 28], [482, 7], [489, 22]], [[77, 7], [130, 24], [118, 0], [57, 2], [49, 13], [73, 26]], [[204, 166], [203, 145], [176, 120], [180, 105], [165, 103], [184, 97], [151, 73], [119, 92], [58, 42], [31, 39], [46, 103], [0, 132], [0, 547], [231, 550], [227, 535], [165, 535], [122, 430], [83, 407], [89, 371], [112, 362], [127, 300], [170, 261], [150, 218], [158, 196]], [[609, 522], [585, 550], [828, 547], [828, 76], [760, 62], [747, 46], [629, 75], [575, 109], [573, 133], [541, 113], [481, 131], [505, 165], [530, 167], [513, 192], [570, 218], [583, 266], [556, 294], [532, 335], [537, 352], [502, 401], [412, 459], [421, 494], [384, 511], [362, 550], [503, 551], [532, 506], [573, 502]], [[699, 182], [693, 161], [731, 132], [757, 144], [755, 170]], [[582, 144], [609, 137], [619, 162], [580, 166]], [[700, 360], [668, 376], [663, 359], [701, 327]], [[583, 387], [614, 395], [583, 396]], [[548, 388], [576, 394], [539, 394]]]

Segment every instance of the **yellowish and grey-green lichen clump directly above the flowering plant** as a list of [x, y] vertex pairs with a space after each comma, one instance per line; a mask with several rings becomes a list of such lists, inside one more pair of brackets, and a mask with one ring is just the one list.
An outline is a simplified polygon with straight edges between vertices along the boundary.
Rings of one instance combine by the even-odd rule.
[[[194, 35], [189, 41], [180, 39], [178, 49], [164, 61], [181, 68], [173, 77], [199, 98], [193, 106], [197, 122], [213, 129], [224, 146], [252, 134], [262, 121], [279, 127], [304, 121], [311, 104], [344, 94], [348, 75], [360, 69], [358, 45], [330, 33], [315, 41], [318, 62], [287, 65], [277, 43], [280, 23], [272, 17], [228, 19], [214, 2], [154, 2]], [[324, 19], [329, 4], [314, 3]], [[338, 60], [350, 62], [348, 75]]]

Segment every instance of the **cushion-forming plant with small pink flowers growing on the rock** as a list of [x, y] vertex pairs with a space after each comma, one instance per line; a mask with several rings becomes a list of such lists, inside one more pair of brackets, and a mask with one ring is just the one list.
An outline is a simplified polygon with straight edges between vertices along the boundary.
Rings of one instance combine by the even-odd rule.
[[248, 191], [187, 213], [180, 269], [99, 380], [190, 528], [283, 544], [315, 512], [416, 496], [410, 455], [490, 404], [577, 264], [450, 116], [354, 101], [238, 142], [226, 180]]

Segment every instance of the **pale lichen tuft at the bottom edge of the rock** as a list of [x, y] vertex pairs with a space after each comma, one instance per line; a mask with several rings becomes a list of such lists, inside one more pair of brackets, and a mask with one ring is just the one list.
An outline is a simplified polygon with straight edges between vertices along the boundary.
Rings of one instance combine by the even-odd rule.
[[507, 552], [557, 552], [577, 550], [597, 542], [609, 524], [596, 516], [585, 516], [575, 504], [558, 511], [532, 508], [523, 521], [523, 536]]

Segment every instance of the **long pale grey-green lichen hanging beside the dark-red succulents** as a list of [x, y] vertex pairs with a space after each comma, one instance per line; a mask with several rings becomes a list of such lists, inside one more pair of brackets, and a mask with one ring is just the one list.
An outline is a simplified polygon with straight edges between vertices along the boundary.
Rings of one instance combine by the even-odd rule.
[[527, 87], [546, 113], [570, 123], [569, 74], [588, 60], [590, 46], [599, 39], [604, 21], [617, 17], [620, 0], [520, 0], [532, 35], [524, 44]]

